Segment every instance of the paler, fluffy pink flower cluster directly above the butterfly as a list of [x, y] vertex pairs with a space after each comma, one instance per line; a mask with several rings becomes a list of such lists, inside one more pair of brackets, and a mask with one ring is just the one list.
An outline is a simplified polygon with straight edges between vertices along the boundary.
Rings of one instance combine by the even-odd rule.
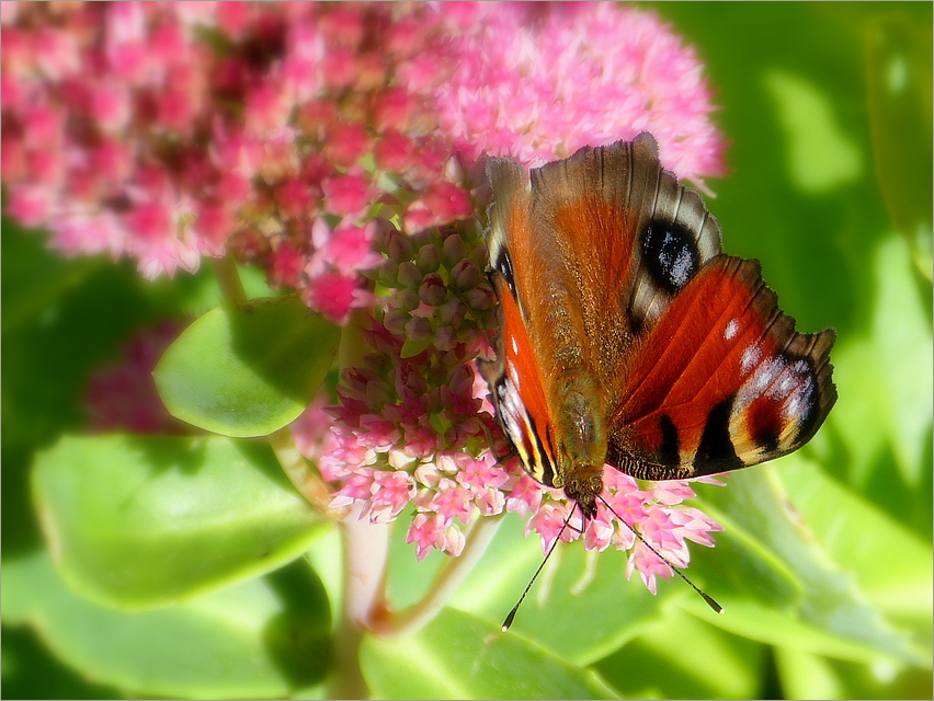
[[464, 4], [470, 31], [453, 36], [457, 69], [436, 90], [459, 153], [535, 166], [651, 131], [679, 176], [724, 173], [703, 65], [654, 14], [611, 2]]

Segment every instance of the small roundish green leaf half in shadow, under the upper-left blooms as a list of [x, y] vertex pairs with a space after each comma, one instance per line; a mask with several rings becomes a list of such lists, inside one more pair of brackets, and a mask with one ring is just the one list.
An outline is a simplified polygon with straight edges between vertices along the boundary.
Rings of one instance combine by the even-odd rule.
[[189, 326], [153, 376], [169, 412], [225, 436], [265, 436], [315, 397], [340, 329], [295, 297], [226, 303]]

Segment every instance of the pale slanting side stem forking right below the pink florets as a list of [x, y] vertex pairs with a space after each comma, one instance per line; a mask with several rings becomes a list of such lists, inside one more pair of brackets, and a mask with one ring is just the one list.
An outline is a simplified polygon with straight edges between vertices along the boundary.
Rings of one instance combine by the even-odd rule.
[[467, 533], [464, 551], [459, 556], [451, 558], [444, 563], [428, 594], [403, 611], [392, 613], [384, 608], [381, 616], [372, 622], [373, 632], [380, 637], [403, 635], [417, 631], [437, 616], [464, 579], [472, 572], [501, 524], [502, 515], [478, 518]]

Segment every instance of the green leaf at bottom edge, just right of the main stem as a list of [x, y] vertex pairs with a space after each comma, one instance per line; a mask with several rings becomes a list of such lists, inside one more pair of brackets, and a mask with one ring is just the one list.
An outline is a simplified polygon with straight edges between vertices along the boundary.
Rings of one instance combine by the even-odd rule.
[[454, 609], [411, 635], [365, 637], [361, 667], [380, 699], [618, 698], [593, 671]]

